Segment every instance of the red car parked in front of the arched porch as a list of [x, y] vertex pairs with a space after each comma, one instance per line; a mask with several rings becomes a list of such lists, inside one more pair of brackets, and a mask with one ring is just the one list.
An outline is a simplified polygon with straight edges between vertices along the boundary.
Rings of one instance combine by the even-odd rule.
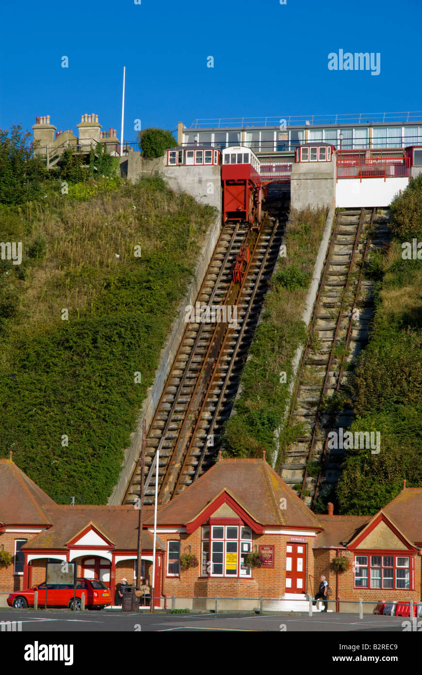
[[[47, 607], [69, 607], [73, 609], [73, 586], [70, 584], [42, 583], [34, 586], [29, 591], [10, 593], [7, 598], [9, 607], [24, 610], [28, 606], [34, 606], [34, 591], [38, 591], [38, 607], [45, 605], [45, 591], [47, 588]], [[97, 579], [78, 578], [76, 585], [75, 609], [80, 610], [82, 605], [82, 593], [85, 593], [85, 606], [88, 610], [102, 610], [111, 604], [111, 591]]]

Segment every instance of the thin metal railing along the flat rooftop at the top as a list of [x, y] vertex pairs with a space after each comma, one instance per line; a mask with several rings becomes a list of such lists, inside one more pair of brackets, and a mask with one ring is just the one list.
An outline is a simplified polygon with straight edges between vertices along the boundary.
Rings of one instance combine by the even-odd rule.
[[342, 113], [339, 115], [274, 115], [272, 117], [210, 117], [194, 119], [191, 129], [243, 126], [315, 126], [324, 124], [408, 124], [422, 121], [422, 111], [399, 113]]

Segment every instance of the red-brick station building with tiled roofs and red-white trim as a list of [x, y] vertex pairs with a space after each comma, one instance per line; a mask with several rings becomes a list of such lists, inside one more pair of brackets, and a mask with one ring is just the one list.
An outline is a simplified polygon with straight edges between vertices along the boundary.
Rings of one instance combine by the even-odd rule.
[[[142, 565], [152, 574], [154, 513], [144, 507]], [[0, 460], [0, 592], [45, 579], [47, 560], [78, 562], [78, 574], [114, 591], [135, 578], [138, 511], [131, 506], [61, 506], [11, 460]], [[362, 597], [421, 601], [422, 488], [406, 488], [375, 516], [314, 514], [264, 459], [221, 459], [198, 481], [158, 507], [156, 606], [307, 610], [320, 574], [333, 591], [329, 609], [357, 611]], [[245, 565], [262, 553], [261, 568]], [[181, 570], [185, 553], [199, 565]], [[347, 558], [336, 572], [332, 560]], [[193, 599], [191, 599], [193, 598]], [[271, 601], [269, 599], [272, 599]], [[374, 605], [365, 605], [372, 612]]]

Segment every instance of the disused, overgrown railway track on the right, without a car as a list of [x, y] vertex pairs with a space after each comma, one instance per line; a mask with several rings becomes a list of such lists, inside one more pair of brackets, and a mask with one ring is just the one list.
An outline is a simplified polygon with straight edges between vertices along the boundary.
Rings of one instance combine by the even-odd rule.
[[388, 240], [387, 223], [385, 209], [336, 215], [289, 415], [289, 425], [301, 425], [303, 435], [284, 450], [278, 465], [282, 479], [308, 506], [340, 477], [344, 450], [328, 448], [328, 433], [349, 427], [353, 411], [336, 410], [328, 397], [344, 391], [350, 364], [367, 343], [373, 281], [364, 279], [363, 266], [369, 252]]

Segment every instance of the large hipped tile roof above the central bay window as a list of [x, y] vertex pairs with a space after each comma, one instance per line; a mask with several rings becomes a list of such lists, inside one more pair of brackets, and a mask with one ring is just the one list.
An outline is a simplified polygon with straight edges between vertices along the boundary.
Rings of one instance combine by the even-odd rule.
[[[262, 526], [320, 529], [318, 516], [263, 459], [220, 459], [160, 509], [157, 523], [187, 525], [224, 491]], [[145, 522], [152, 524], [153, 518]]]

